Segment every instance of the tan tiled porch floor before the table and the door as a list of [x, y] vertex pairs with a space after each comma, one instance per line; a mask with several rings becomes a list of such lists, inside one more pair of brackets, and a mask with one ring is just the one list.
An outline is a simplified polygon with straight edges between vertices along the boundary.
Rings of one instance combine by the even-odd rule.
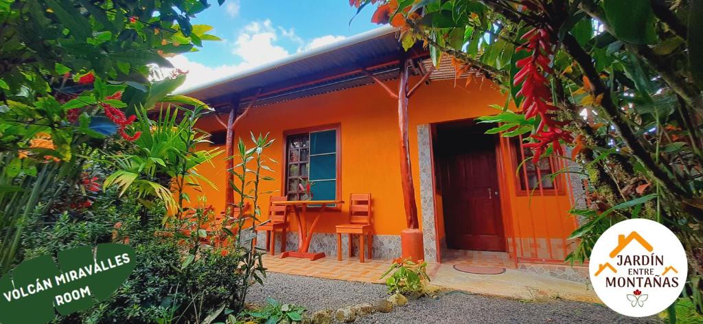
[[[460, 263], [459, 259], [455, 261]], [[380, 276], [390, 264], [391, 260], [380, 259], [366, 260], [362, 264], [359, 259], [344, 258], [342, 261], [337, 261], [335, 257], [310, 261], [296, 258], [280, 259], [280, 254], [264, 256], [264, 266], [271, 272], [366, 283], [385, 282], [380, 279]], [[433, 285], [450, 290], [522, 300], [559, 297], [580, 302], [600, 303], [595, 292], [583, 283], [541, 276], [508, 266], [505, 268], [507, 268], [505, 273], [499, 275], [477, 275], [456, 271], [453, 264], [430, 263], [427, 265], [427, 274], [432, 279]]]

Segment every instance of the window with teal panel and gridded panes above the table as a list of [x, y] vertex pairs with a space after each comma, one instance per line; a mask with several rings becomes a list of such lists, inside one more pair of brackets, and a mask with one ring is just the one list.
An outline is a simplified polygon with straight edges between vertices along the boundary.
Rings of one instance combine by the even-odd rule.
[[286, 195], [301, 200], [300, 180], [310, 181], [314, 200], [337, 199], [338, 129], [322, 129], [289, 135], [286, 138]]

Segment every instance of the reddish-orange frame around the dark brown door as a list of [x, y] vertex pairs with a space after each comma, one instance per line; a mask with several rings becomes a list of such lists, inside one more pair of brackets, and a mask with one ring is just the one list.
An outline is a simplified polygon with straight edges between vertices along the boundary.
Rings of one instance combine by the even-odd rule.
[[[444, 228], [446, 228], [446, 223], [444, 223], [444, 211], [439, 210], [440, 208], [437, 207], [437, 201], [435, 200], [435, 197], [438, 195], [441, 196], [441, 193], [437, 190], [437, 166], [435, 164], [436, 158], [434, 157], [434, 144], [436, 141], [439, 140], [437, 136], [437, 126], [440, 124], [451, 124], [451, 123], [456, 123], [456, 122], [472, 122], [476, 118], [461, 118], [461, 119], [451, 119], [451, 120], [444, 120], [441, 122], [433, 122], [430, 123], [430, 162], [432, 165], [432, 200], [434, 205], [434, 235], [435, 238], [439, 238], [439, 226], [437, 225], [439, 221], [441, 221], [444, 224]], [[496, 134], [498, 138], [496, 138], [496, 144], [495, 144], [495, 153], [496, 153], [496, 169], [497, 169], [497, 174], [496, 177], [498, 178], [498, 189], [501, 190], [501, 195], [499, 195], [501, 199], [501, 220], [503, 221], [503, 238], [505, 239], [505, 252], [508, 253], [508, 256], [515, 261], [517, 264], [517, 254], [514, 252], [514, 247], [513, 247], [513, 252], [511, 252], [511, 247], [512, 244], [515, 244], [515, 242], [512, 242], [510, 244], [508, 242], [508, 238], [515, 238], [514, 231], [512, 228], [512, 210], [510, 209], [510, 198], [508, 197], [509, 194], [511, 194], [508, 190], [508, 183], [506, 174], [505, 174], [505, 166], [508, 164], [505, 164], [505, 160], [508, 159], [508, 162], [512, 161], [510, 158], [510, 148], [504, 148], [503, 142], [504, 138], [502, 138], [499, 134]], [[507, 150], [507, 151], [506, 151]], [[444, 205], [443, 205], [444, 207]], [[441, 215], [441, 216], [440, 216]], [[440, 219], [441, 217], [441, 219]], [[446, 231], [445, 233], [441, 233], [442, 236], [445, 238], [446, 242]], [[513, 239], [514, 241], [514, 239]], [[441, 245], [439, 240], [435, 240], [435, 244], [437, 245], [437, 262], [441, 263], [442, 257], [441, 257]]]

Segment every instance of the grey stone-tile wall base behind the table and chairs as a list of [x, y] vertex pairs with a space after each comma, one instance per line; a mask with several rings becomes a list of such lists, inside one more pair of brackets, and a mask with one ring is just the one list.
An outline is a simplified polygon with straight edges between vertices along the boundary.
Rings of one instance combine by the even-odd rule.
[[[280, 254], [280, 232], [276, 232], [276, 254]], [[286, 233], [286, 251], [295, 251], [298, 248], [298, 233]], [[342, 257], [347, 257], [349, 235], [342, 235]], [[266, 232], [257, 234], [257, 247], [265, 248]], [[359, 235], [354, 235], [352, 242], [354, 257], [359, 257]], [[314, 233], [310, 240], [310, 252], [325, 252], [329, 257], [337, 257], [337, 234]], [[395, 259], [400, 257], [400, 235], [373, 235], [372, 259]]]

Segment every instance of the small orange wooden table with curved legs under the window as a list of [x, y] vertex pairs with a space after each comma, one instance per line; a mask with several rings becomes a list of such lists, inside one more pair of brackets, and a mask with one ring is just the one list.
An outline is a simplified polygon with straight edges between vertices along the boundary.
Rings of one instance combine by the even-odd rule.
[[[322, 259], [325, 257], [324, 252], [309, 252], [310, 250], [310, 239], [315, 231], [315, 226], [320, 220], [320, 216], [325, 209], [330, 205], [342, 205], [344, 201], [342, 200], [289, 200], [289, 201], [279, 201], [271, 202], [273, 205], [282, 205], [286, 208], [292, 208], [295, 211], [295, 219], [298, 223], [298, 250], [297, 251], [287, 251], [280, 254], [281, 258], [292, 257], [292, 258], [303, 258], [310, 259], [310, 261], [315, 261], [317, 259]], [[310, 227], [307, 227], [305, 219], [307, 218], [308, 207], [312, 205], [315, 207], [319, 206], [319, 210], [315, 214], [315, 219], [312, 221]]]

